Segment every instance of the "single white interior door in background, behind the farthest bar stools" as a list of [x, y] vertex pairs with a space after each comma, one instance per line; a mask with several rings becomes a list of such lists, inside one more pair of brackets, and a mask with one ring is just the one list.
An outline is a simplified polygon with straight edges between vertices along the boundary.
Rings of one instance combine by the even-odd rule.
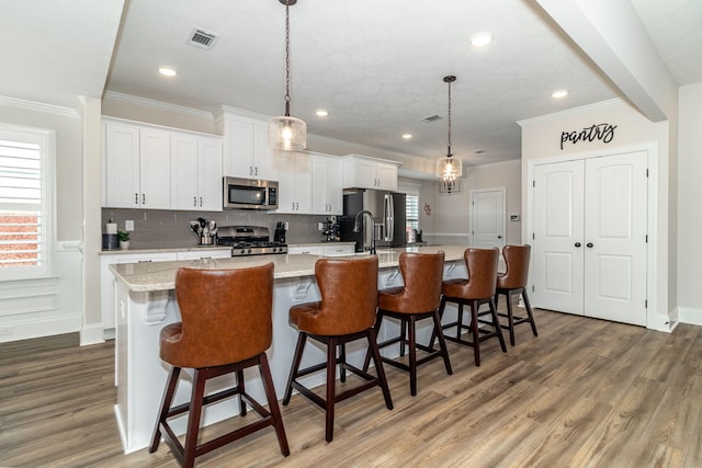
[[473, 247], [505, 246], [505, 190], [471, 192], [471, 231]]

